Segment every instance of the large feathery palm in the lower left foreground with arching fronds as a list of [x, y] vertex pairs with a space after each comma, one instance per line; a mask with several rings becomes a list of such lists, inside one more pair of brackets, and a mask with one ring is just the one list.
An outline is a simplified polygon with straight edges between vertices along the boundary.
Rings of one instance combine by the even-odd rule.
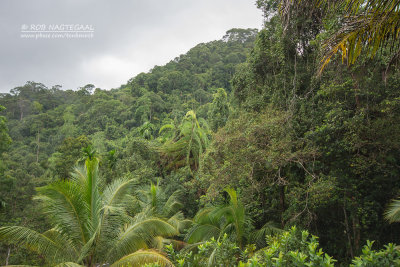
[[21, 226], [0, 227], [0, 240], [33, 250], [54, 266], [141, 266], [172, 263], [151, 247], [157, 236], [177, 229], [159, 217], [131, 216], [133, 180], [116, 179], [103, 186], [98, 159], [91, 154], [72, 179], [38, 188], [39, 200], [52, 228], [44, 233]]

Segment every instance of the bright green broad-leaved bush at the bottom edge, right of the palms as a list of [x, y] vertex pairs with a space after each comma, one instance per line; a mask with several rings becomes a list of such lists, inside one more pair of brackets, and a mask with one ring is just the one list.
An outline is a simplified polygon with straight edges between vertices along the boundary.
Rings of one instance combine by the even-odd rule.
[[170, 259], [176, 266], [334, 266], [336, 260], [318, 249], [317, 237], [308, 231], [289, 231], [266, 237], [268, 246], [253, 253], [255, 246], [249, 245], [241, 251], [228, 235], [220, 241], [212, 238], [197, 247], [198, 252], [182, 250], [175, 252], [172, 245], [166, 247]]

